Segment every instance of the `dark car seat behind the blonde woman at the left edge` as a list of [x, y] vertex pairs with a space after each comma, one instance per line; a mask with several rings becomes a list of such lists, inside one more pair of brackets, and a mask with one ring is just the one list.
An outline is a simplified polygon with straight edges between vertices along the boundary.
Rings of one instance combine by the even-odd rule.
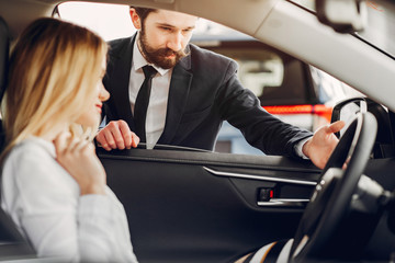
[[[0, 16], [0, 101], [2, 100], [8, 82], [9, 47], [10, 32], [5, 21]], [[0, 152], [3, 149], [3, 146], [4, 130], [0, 118]], [[14, 256], [25, 259], [27, 255], [35, 256], [34, 250], [20, 233], [8, 214], [0, 208], [0, 261], [4, 258], [10, 260]]]

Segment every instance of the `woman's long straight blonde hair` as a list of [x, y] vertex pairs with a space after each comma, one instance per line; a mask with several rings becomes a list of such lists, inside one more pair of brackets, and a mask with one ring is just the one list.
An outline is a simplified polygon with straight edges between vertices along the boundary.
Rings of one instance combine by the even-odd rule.
[[101, 37], [71, 23], [46, 18], [27, 26], [10, 58], [5, 152], [29, 136], [72, 125], [97, 92], [106, 50]]

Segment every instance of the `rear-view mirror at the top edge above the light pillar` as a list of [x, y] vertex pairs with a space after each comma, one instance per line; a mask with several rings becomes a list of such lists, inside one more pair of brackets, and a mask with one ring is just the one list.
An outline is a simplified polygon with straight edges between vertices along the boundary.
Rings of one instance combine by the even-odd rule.
[[319, 22], [339, 33], [363, 31], [368, 23], [366, 4], [362, 0], [316, 0]]

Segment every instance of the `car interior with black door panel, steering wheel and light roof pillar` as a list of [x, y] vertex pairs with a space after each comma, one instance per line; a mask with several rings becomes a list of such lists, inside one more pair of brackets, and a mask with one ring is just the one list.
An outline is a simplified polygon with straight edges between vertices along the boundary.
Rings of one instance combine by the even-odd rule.
[[[394, 57], [335, 32], [293, 1], [101, 2], [181, 11], [224, 23], [366, 94], [335, 106], [332, 122], [351, 121], [323, 170], [308, 160], [280, 156], [172, 146], [110, 152], [98, 148], [108, 184], [125, 207], [139, 262], [235, 262], [290, 239], [287, 262], [394, 261], [395, 104], [388, 96], [394, 93]], [[58, 3], [0, 0], [0, 94], [7, 89], [12, 42], [30, 21], [52, 16]], [[350, 73], [356, 65], [357, 77]], [[0, 261], [21, 259], [34, 260], [35, 252], [0, 209]]]

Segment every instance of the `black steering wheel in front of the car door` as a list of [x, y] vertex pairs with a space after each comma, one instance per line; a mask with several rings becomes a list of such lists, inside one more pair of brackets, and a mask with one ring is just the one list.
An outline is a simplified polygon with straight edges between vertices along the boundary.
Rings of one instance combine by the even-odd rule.
[[358, 113], [330, 156], [296, 231], [290, 262], [305, 262], [328, 249], [330, 238], [350, 210], [352, 195], [366, 167], [377, 123]]

